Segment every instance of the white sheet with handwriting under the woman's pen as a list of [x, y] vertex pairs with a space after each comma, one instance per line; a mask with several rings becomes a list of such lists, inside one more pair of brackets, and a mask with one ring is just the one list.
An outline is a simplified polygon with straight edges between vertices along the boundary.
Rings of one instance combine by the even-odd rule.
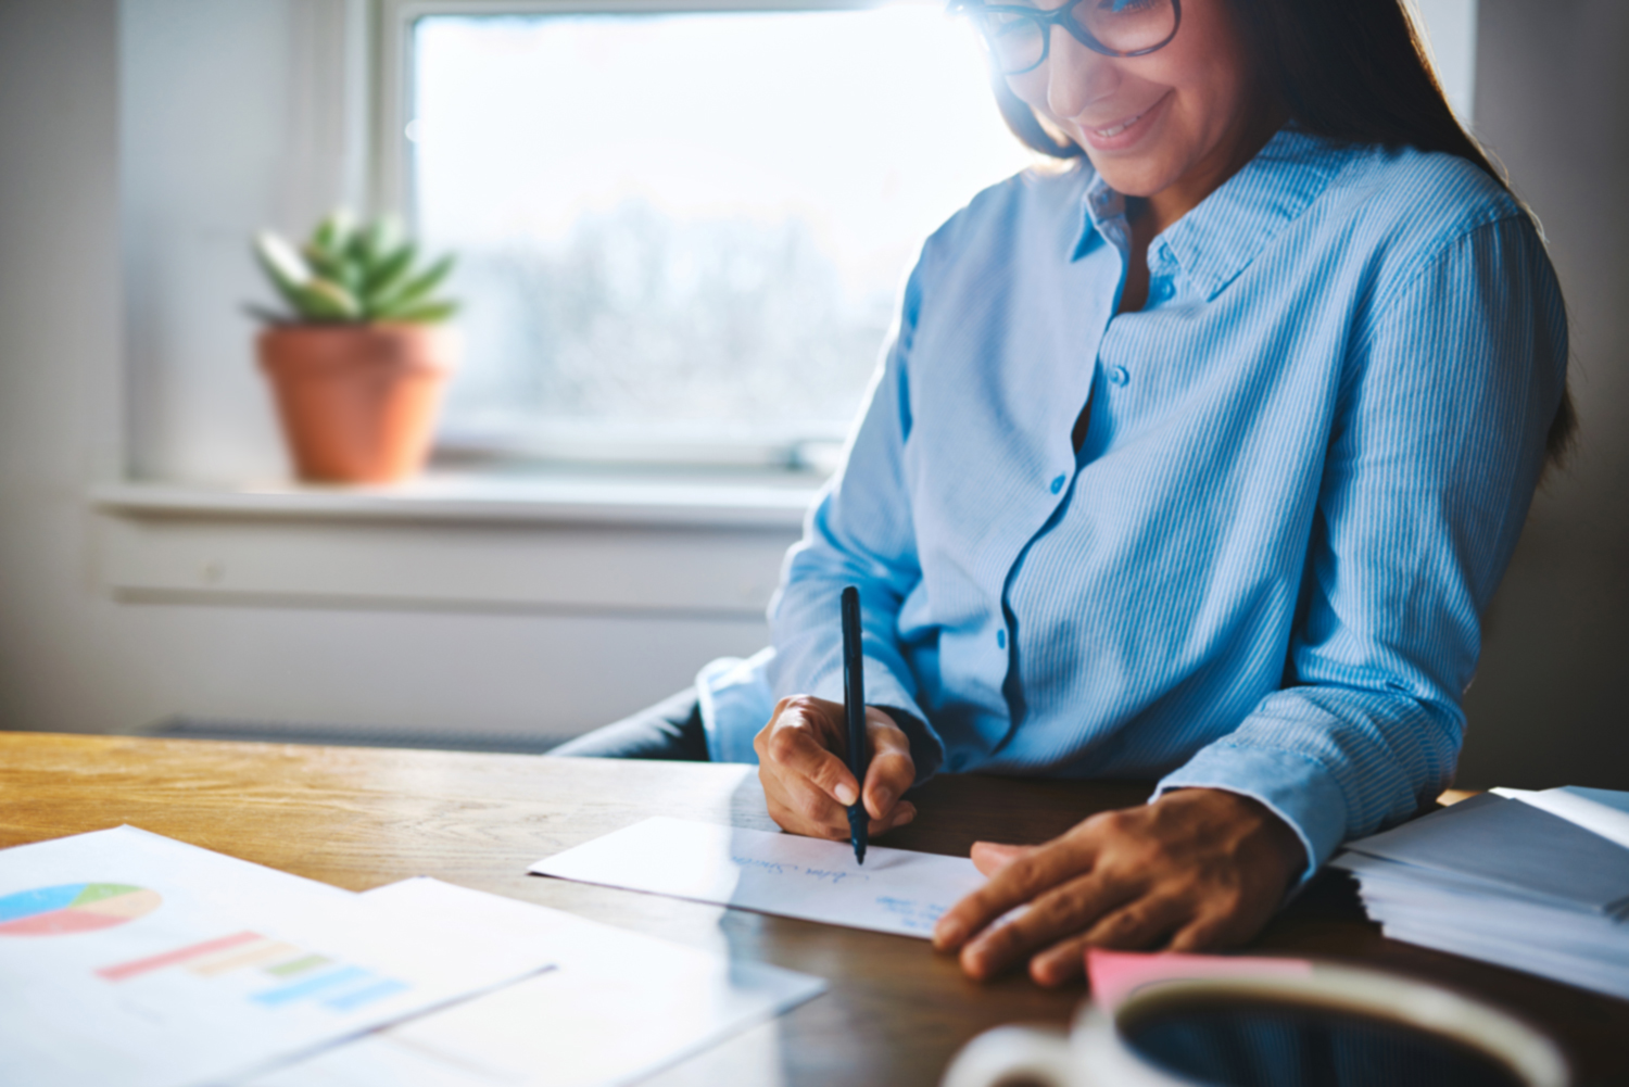
[[538, 875], [927, 939], [984, 885], [973, 860], [652, 818], [531, 865]]

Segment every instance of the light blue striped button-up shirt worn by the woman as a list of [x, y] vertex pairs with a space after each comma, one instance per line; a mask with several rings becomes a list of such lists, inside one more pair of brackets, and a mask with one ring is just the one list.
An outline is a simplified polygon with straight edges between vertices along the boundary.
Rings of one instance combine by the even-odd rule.
[[855, 583], [924, 776], [1228, 789], [1308, 872], [1451, 781], [1565, 380], [1533, 223], [1461, 158], [1284, 130], [1116, 315], [1127, 244], [1085, 163], [927, 241], [774, 649], [700, 676], [714, 758], [775, 696], [842, 699]]

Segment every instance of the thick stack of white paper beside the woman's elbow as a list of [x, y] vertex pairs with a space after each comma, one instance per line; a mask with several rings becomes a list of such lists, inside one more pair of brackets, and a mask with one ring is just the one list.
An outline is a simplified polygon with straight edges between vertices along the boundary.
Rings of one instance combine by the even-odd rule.
[[1629, 999], [1629, 794], [1499, 789], [1333, 867], [1391, 939]]

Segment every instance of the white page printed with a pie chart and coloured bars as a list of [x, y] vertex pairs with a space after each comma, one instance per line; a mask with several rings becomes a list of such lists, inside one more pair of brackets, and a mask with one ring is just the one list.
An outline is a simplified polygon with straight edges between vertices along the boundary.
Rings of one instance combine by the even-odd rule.
[[7, 1084], [217, 1082], [547, 965], [129, 826], [0, 851]]

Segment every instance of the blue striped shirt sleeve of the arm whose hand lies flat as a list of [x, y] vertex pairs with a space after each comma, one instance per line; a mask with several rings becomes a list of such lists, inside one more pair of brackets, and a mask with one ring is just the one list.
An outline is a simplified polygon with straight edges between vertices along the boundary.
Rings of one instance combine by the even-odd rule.
[[1481, 616], [1565, 385], [1561, 292], [1526, 217], [1406, 277], [1342, 375], [1284, 688], [1165, 777], [1284, 818], [1310, 877], [1453, 779]]

